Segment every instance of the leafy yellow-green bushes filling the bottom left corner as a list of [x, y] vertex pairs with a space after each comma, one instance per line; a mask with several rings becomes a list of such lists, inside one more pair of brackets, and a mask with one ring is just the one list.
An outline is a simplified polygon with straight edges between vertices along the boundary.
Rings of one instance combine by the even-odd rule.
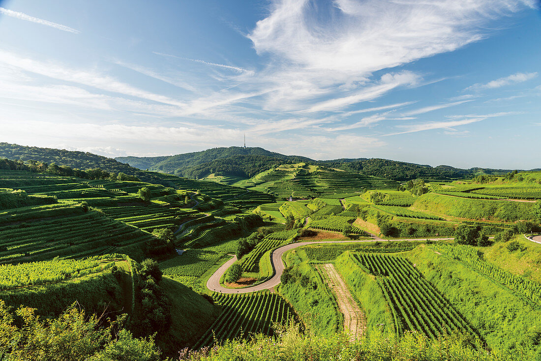
[[85, 316], [73, 304], [58, 318], [42, 320], [34, 309], [21, 306], [16, 316], [0, 300], [0, 358], [11, 360], [158, 361], [152, 338], [137, 339], [120, 330], [123, 318], [103, 327], [102, 317]]

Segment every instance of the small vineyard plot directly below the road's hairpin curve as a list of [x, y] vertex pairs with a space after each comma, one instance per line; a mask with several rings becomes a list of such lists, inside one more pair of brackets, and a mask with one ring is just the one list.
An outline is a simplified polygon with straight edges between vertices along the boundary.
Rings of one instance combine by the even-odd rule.
[[258, 332], [272, 336], [274, 324], [285, 325], [294, 319], [293, 310], [275, 293], [215, 293], [213, 298], [222, 306], [222, 313], [192, 347], [194, 350]]

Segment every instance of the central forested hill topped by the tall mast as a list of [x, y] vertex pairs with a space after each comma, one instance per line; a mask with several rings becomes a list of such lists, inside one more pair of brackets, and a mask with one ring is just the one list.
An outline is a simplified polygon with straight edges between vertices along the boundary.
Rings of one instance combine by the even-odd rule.
[[255, 147], [212, 148], [202, 152], [158, 157], [116, 157], [132, 167], [174, 173], [186, 178], [202, 178], [210, 173], [250, 178], [285, 162], [315, 162], [296, 155], [283, 155]]

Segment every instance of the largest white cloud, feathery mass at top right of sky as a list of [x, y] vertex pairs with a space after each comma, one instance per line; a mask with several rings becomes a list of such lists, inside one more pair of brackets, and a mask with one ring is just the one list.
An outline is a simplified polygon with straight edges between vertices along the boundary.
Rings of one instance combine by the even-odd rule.
[[268, 109], [337, 111], [389, 91], [365, 97], [375, 71], [479, 41], [489, 21], [526, 6], [533, 1], [275, 0], [248, 38], [272, 58], [261, 76], [288, 84], [268, 94]]

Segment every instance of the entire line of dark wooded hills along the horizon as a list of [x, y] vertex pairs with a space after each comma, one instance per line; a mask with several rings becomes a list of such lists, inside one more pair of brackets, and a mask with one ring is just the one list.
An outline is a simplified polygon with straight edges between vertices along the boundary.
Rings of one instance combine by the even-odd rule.
[[[479, 174], [505, 174], [513, 169], [470, 168], [460, 169], [451, 166], [431, 167], [415, 163], [400, 162], [378, 158], [342, 158], [318, 161], [305, 156], [284, 155], [253, 147], [212, 148], [201, 152], [184, 153], [155, 157], [116, 157], [115, 159], [76, 150], [28, 147], [0, 142], [0, 158], [11, 160], [36, 160], [56, 163], [58, 166], [89, 169], [101, 168], [108, 172], [134, 175], [141, 181], [163, 184], [163, 179], [144, 172], [149, 169], [157, 172], [175, 174], [184, 178], [201, 179], [211, 173], [251, 178], [281, 163], [307, 162], [313, 165], [348, 170], [395, 181], [416, 178], [456, 179], [471, 178]], [[541, 168], [531, 169], [533, 171]]]

